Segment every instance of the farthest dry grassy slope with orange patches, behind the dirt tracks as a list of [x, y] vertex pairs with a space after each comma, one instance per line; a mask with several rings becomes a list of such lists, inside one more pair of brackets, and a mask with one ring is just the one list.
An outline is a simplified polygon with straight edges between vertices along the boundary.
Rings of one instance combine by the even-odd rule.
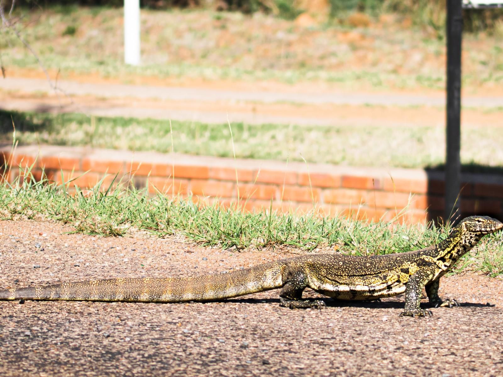
[[[428, 26], [394, 23], [351, 29], [336, 22], [309, 28], [264, 14], [142, 10], [142, 65], [123, 63], [122, 9], [31, 12], [18, 25], [47, 68], [203, 79], [330, 81], [355, 87], [429, 87], [445, 82], [445, 41]], [[503, 30], [503, 27], [501, 28]], [[503, 82], [499, 35], [465, 35], [463, 86]], [[3, 65], [39, 68], [17, 37], [0, 31]]]

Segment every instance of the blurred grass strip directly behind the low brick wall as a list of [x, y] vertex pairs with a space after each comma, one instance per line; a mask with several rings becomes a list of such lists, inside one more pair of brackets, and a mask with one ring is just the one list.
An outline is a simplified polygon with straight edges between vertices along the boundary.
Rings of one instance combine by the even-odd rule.
[[[0, 111], [5, 141], [12, 122], [21, 144], [86, 145], [133, 151], [171, 152], [169, 122]], [[334, 122], [335, 123], [335, 122]], [[229, 126], [173, 121], [179, 153], [233, 157]], [[231, 124], [236, 157], [351, 166], [422, 168], [442, 166], [441, 127], [296, 126]], [[392, 133], [390, 132], [392, 131]], [[501, 170], [503, 132], [498, 125], [463, 127], [461, 160], [469, 171]], [[267, 147], [266, 147], [267, 146]]]

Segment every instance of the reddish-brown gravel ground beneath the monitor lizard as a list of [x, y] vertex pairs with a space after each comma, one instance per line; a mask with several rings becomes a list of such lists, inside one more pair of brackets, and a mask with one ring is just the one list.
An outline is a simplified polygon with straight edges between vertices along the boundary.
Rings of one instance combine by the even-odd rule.
[[[0, 288], [210, 273], [292, 255], [222, 251], [178, 237], [64, 234], [70, 230], [0, 222]], [[497, 376], [502, 291], [501, 279], [443, 278], [441, 295], [462, 307], [420, 319], [398, 317], [403, 297], [289, 310], [272, 291], [207, 304], [0, 302], [0, 375]]]

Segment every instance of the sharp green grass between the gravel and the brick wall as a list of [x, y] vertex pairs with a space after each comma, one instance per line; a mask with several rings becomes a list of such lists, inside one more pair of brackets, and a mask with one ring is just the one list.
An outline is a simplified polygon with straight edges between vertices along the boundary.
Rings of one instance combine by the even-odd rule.
[[[30, 172], [23, 172], [29, 176]], [[99, 186], [100, 183], [98, 183]], [[199, 206], [191, 198], [148, 196], [143, 190], [94, 190], [71, 182], [56, 185], [26, 179], [0, 184], [0, 219], [52, 219], [75, 232], [122, 236], [146, 230], [159, 237], [182, 234], [202, 245], [223, 249], [261, 250], [289, 245], [298, 252], [337, 249], [351, 255], [374, 255], [420, 249], [438, 243], [449, 232], [435, 225], [400, 225], [396, 221], [365, 223], [340, 216], [303, 216], [277, 212], [247, 213], [217, 205]], [[459, 263], [491, 276], [503, 273], [503, 232], [484, 237]]]

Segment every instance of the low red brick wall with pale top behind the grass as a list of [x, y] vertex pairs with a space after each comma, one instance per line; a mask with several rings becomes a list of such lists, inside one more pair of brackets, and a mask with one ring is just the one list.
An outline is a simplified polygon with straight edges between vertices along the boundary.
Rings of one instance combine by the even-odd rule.
[[[239, 204], [246, 210], [269, 209], [272, 200], [273, 209], [281, 211], [316, 208], [322, 214], [390, 220], [407, 207], [402, 221], [424, 222], [440, 216], [444, 206], [443, 173], [421, 169], [286, 164], [54, 146], [19, 147], [15, 153], [5, 149], [3, 155], [11, 166], [33, 164], [36, 179], [44, 168], [51, 180], [76, 178], [71, 184], [86, 188], [93, 187], [105, 173], [104, 185], [108, 186], [118, 173], [119, 179], [138, 188], [145, 187], [148, 180], [151, 194], [158, 189], [167, 195]], [[6, 178], [12, 181], [18, 174], [19, 168], [11, 168]], [[501, 218], [503, 177], [465, 174], [460, 200], [464, 215]]]

